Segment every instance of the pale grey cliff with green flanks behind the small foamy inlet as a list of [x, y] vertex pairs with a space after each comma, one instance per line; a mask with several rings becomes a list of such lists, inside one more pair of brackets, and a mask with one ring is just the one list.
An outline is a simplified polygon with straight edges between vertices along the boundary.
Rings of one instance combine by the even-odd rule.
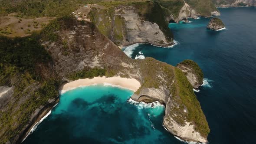
[[151, 43], [167, 47], [173, 44], [173, 35], [167, 26], [171, 13], [158, 3], [93, 7], [90, 17], [98, 29], [118, 46]]

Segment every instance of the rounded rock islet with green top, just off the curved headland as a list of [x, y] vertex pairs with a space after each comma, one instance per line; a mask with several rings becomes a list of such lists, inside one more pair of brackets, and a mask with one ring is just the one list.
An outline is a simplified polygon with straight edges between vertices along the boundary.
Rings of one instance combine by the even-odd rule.
[[199, 88], [203, 84], [203, 72], [196, 62], [187, 59], [177, 64], [193, 88]]

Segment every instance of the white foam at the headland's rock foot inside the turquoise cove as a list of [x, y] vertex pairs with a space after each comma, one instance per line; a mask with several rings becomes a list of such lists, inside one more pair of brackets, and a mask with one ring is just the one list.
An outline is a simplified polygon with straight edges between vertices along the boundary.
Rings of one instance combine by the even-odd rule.
[[164, 107], [164, 105], [162, 105], [159, 101], [154, 101], [152, 103], [144, 103], [144, 102], [138, 102], [138, 101], [134, 101], [131, 98], [128, 99], [128, 103], [130, 103], [131, 105], [136, 105], [138, 106], [138, 109], [142, 109], [142, 108], [158, 108], [158, 107]]

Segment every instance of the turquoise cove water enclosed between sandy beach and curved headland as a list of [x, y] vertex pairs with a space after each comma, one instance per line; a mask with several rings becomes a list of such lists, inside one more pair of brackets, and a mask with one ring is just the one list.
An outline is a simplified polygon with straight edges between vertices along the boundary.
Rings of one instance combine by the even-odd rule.
[[177, 142], [162, 127], [164, 106], [131, 104], [127, 100], [132, 94], [104, 85], [68, 91], [23, 143], [148, 144], [170, 138]]

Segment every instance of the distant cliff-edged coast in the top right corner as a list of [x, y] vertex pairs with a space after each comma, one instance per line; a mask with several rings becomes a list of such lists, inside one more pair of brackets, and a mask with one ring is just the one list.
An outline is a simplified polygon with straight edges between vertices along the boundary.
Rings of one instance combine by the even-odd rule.
[[256, 0], [213, 0], [217, 7], [256, 6]]

